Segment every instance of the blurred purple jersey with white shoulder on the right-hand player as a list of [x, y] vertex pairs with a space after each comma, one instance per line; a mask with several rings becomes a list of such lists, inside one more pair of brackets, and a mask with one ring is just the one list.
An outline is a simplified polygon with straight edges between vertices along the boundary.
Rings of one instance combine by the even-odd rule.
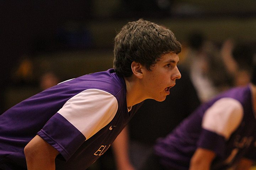
[[199, 147], [216, 153], [212, 170], [226, 169], [242, 157], [256, 160], [256, 119], [251, 99], [248, 85], [200, 106], [171, 134], [157, 141], [154, 149], [160, 163], [187, 170]]

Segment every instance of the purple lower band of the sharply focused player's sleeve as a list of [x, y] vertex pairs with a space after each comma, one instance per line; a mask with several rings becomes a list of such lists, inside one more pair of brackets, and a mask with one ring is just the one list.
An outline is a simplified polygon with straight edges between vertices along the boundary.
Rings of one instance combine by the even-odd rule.
[[59, 113], [53, 115], [37, 135], [57, 149], [66, 161], [86, 140], [85, 136]]

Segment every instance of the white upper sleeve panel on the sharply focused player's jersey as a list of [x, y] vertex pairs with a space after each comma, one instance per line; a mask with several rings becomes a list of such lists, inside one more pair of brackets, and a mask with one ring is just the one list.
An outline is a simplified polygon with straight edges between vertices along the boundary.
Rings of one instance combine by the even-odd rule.
[[70, 98], [58, 111], [86, 140], [106, 126], [116, 115], [118, 103], [112, 94], [87, 89]]

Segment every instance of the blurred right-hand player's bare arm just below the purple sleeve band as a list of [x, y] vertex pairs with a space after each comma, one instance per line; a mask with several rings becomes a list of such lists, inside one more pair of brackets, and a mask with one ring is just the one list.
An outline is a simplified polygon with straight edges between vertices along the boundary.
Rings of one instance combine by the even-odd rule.
[[204, 148], [198, 148], [191, 158], [190, 170], [209, 170], [215, 155], [216, 154], [213, 151]]

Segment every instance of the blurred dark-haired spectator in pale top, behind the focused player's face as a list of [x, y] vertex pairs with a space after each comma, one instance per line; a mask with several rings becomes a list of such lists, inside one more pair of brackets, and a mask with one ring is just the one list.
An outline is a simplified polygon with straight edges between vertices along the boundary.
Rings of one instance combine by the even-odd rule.
[[189, 35], [186, 51], [183, 64], [190, 72], [201, 102], [230, 87], [231, 77], [226, 73], [217, 46], [206, 40], [201, 32]]

